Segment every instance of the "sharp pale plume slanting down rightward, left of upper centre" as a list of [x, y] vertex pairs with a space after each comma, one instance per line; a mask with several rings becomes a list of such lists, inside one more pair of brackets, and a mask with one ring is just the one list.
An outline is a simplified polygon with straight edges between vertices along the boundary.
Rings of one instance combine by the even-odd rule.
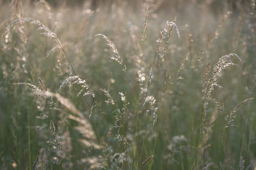
[[102, 36], [102, 38], [104, 38], [107, 43], [108, 43], [108, 46], [109, 48], [111, 49], [111, 51], [114, 53], [114, 56], [113, 57], [110, 57], [110, 59], [112, 60], [115, 60], [117, 61], [119, 64], [121, 64], [122, 66], [124, 66], [124, 71], [126, 71], [126, 66], [123, 62], [123, 59], [122, 57], [120, 57], [119, 53], [118, 53], [118, 50], [116, 49], [116, 46], [115, 44], [107, 37], [105, 36], [104, 34], [96, 34], [95, 36]]

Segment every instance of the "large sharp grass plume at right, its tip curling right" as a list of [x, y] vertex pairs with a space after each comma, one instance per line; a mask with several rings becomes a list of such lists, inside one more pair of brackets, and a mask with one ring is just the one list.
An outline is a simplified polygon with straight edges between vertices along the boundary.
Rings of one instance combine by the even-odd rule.
[[223, 69], [225, 69], [228, 66], [236, 65], [230, 59], [230, 57], [232, 57], [232, 56], [236, 56], [239, 60], [241, 60], [240, 57], [236, 53], [230, 53], [228, 55], [223, 55], [222, 57], [220, 57], [218, 62], [216, 62], [216, 64], [214, 65], [211, 78], [207, 79], [207, 81], [205, 83], [203, 83], [203, 85], [205, 85], [203, 87], [203, 92], [205, 93], [205, 96], [203, 98], [204, 101], [202, 104], [202, 112], [200, 114], [200, 129], [201, 130], [202, 130], [202, 127], [204, 127], [205, 118], [207, 116], [207, 106], [209, 104], [211, 92], [212, 92], [212, 90], [214, 90], [215, 86], [220, 87], [220, 85], [218, 85], [218, 82], [217, 82], [218, 77], [221, 77], [221, 72], [223, 71]]

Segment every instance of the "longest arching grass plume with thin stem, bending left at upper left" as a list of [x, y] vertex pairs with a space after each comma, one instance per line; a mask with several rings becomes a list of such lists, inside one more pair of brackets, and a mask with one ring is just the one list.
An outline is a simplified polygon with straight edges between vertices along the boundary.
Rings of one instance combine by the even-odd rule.
[[38, 25], [38, 30], [42, 30], [43, 32], [41, 32], [40, 34], [46, 36], [47, 38], [51, 38], [54, 39], [54, 41], [56, 42], [56, 44], [61, 48], [62, 52], [65, 54], [67, 60], [68, 60], [68, 64], [70, 65], [70, 67], [72, 68], [72, 71], [74, 73], [74, 75], [76, 76], [76, 71], [74, 70], [74, 67], [72, 66], [67, 53], [65, 52], [65, 50], [63, 49], [60, 39], [57, 38], [56, 34], [54, 32], [51, 31], [51, 29], [49, 29], [48, 27], [46, 27], [44, 24], [42, 24], [42, 22], [40, 22], [39, 20], [35, 20], [34, 18], [29, 18], [29, 17], [25, 17], [25, 18], [18, 18], [17, 20], [14, 20], [10, 25], [8, 25], [8, 27], [6, 27], [5, 31], [2, 34], [2, 37], [4, 36], [4, 34], [6, 34], [6, 32], [8, 32], [8, 30], [10, 29], [10, 27], [12, 27], [15, 24], [22, 24], [22, 22], [26, 22], [29, 24], [34, 24], [34, 25]]

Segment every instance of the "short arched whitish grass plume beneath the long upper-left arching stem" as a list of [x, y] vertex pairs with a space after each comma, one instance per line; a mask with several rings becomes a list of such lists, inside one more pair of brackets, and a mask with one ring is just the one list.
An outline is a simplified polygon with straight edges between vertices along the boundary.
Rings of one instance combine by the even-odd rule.
[[69, 88], [72, 87], [73, 85], [79, 85], [81, 90], [77, 92], [77, 97], [79, 96], [88, 96], [92, 95], [92, 97], [95, 97], [94, 93], [92, 90], [90, 90], [89, 86], [86, 83], [86, 80], [83, 80], [79, 78], [79, 76], [69, 76], [66, 78], [60, 85], [59, 92], [61, 92], [61, 89], [63, 89], [65, 86], [68, 86]]

